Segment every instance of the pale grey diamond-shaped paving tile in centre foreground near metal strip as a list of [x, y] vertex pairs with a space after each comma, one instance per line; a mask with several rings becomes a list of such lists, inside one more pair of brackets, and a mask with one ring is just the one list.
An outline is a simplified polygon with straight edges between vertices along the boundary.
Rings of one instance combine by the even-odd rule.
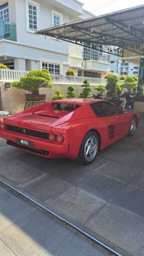
[[43, 204], [48, 209], [81, 227], [94, 212], [106, 204], [106, 201], [73, 186]]

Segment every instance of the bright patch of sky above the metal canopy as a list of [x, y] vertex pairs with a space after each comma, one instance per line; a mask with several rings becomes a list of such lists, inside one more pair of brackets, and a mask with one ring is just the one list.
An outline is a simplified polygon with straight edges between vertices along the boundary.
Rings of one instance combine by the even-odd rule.
[[144, 0], [81, 0], [83, 8], [95, 15], [102, 15], [144, 4]]

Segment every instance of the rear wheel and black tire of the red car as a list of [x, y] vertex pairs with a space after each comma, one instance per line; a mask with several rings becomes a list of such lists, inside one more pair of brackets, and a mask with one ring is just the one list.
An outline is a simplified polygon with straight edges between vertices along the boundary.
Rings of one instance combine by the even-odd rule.
[[98, 134], [94, 131], [89, 131], [81, 143], [76, 161], [82, 165], [91, 164], [98, 153], [99, 144], [100, 140]]

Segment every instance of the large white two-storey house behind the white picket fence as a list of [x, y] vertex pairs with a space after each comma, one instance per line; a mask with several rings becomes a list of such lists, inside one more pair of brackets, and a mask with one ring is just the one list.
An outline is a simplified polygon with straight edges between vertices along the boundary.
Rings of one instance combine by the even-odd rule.
[[108, 55], [35, 34], [93, 16], [79, 0], [0, 0], [0, 61], [10, 69], [47, 68], [52, 74], [65, 74], [72, 67], [78, 76], [104, 77]]

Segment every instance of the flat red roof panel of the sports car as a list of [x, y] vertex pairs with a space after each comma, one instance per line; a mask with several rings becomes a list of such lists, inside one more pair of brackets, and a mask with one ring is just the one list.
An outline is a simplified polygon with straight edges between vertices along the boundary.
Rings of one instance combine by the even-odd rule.
[[82, 98], [73, 98], [73, 99], [57, 99], [53, 102], [59, 102], [59, 103], [73, 103], [78, 105], [85, 105], [85, 104], [92, 104], [95, 102], [104, 101], [102, 99], [82, 99]]

